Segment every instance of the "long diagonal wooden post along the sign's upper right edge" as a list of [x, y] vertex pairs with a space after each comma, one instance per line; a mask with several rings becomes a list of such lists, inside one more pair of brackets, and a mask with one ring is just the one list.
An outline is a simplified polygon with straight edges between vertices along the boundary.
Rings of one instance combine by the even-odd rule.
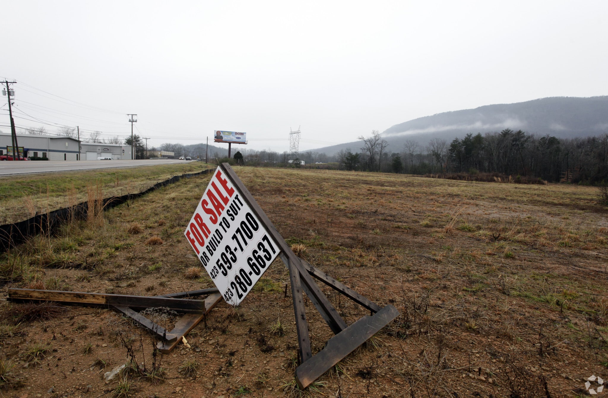
[[330, 329], [334, 333], [339, 333], [340, 331], [346, 329], [347, 324], [344, 322], [344, 319], [340, 317], [336, 309], [333, 307], [333, 305], [331, 305], [331, 302], [326, 298], [325, 295], [323, 295], [323, 292], [321, 292], [319, 286], [316, 284], [316, 282], [314, 282], [313, 278], [311, 278], [306, 272], [305, 268], [300, 263], [300, 259], [295, 256], [287, 242], [285, 242], [285, 239], [283, 239], [266, 213], [264, 213], [257, 201], [255, 201], [253, 195], [251, 195], [249, 190], [247, 190], [247, 187], [243, 184], [240, 178], [238, 178], [237, 173], [235, 173], [232, 167], [230, 167], [230, 165], [227, 163], [222, 163], [221, 167], [228, 178], [230, 178], [230, 181], [232, 181], [232, 183], [241, 191], [241, 195], [243, 196], [244, 200], [247, 201], [252, 211], [255, 212], [260, 221], [264, 224], [264, 226], [266, 226], [269, 234], [271, 234], [272, 240], [274, 240], [280, 250], [288, 257], [289, 263], [299, 271], [298, 279], [300, 279], [301, 283], [306, 285], [311, 295], [314, 296], [317, 303], [320, 305], [320, 307], [322, 307], [323, 312], [325, 312], [330, 319], [330, 322], [328, 322]]

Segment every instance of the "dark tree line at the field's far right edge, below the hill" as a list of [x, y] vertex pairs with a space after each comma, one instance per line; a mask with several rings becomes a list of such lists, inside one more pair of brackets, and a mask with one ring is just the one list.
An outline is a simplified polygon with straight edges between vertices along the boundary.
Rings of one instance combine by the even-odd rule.
[[587, 138], [538, 137], [523, 130], [466, 134], [451, 142], [434, 138], [426, 146], [407, 140], [401, 151], [387, 151], [378, 131], [359, 137], [359, 152], [337, 154], [340, 167], [410, 174], [501, 173], [550, 182], [608, 182], [608, 134]]

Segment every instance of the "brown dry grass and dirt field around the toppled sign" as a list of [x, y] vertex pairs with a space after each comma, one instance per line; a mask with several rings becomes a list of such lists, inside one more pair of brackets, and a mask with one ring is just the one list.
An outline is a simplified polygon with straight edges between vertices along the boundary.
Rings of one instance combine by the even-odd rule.
[[[191, 348], [154, 366], [151, 335], [112, 310], [4, 302], [2, 396], [573, 397], [590, 375], [608, 379], [608, 209], [592, 187], [235, 170], [299, 256], [401, 316], [301, 392], [280, 260], [240, 307], [220, 302], [187, 336]], [[3, 254], [0, 295], [211, 287], [182, 235], [208, 181], [179, 181]], [[323, 291], [347, 324], [365, 315]], [[306, 310], [314, 354], [331, 332]], [[126, 347], [145, 370], [106, 384]]]

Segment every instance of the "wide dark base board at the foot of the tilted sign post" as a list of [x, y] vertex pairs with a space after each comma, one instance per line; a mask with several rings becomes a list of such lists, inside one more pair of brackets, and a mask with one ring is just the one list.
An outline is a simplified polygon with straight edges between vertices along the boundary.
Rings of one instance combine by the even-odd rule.
[[330, 338], [325, 348], [317, 355], [295, 369], [295, 382], [302, 389], [308, 387], [314, 380], [317, 380], [332, 366], [353, 352], [354, 349], [365, 343], [398, 315], [399, 311], [389, 304], [376, 312], [375, 315], [365, 315], [351, 324], [347, 329]]

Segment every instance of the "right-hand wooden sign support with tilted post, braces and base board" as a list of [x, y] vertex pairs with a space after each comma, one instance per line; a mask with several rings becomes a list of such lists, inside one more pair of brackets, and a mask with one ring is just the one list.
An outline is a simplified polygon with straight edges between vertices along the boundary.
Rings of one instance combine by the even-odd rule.
[[[304, 389], [357, 347], [365, 343], [382, 327], [393, 321], [393, 319], [399, 316], [399, 312], [390, 304], [381, 308], [375, 302], [359, 295], [353, 289], [341, 284], [336, 279], [323, 273], [323, 271], [295, 256], [287, 242], [285, 242], [285, 239], [283, 239], [249, 190], [238, 178], [237, 173], [230, 167], [230, 164], [222, 163], [220, 167], [223, 169], [224, 175], [240, 190], [242, 198], [249, 204], [249, 207], [255, 212], [261, 223], [264, 224], [269, 234], [271, 234], [272, 239], [281, 250], [279, 256], [289, 270], [300, 357], [300, 365], [295, 369], [295, 382], [300, 388]], [[375, 314], [372, 316], [366, 315], [350, 326], [347, 326], [344, 319], [340, 317], [312, 277], [319, 279], [319, 281]], [[311, 351], [302, 293], [306, 293], [306, 296], [308, 296], [314, 307], [325, 319], [331, 331], [335, 334], [334, 337], [327, 341], [325, 347], [314, 356]]]

